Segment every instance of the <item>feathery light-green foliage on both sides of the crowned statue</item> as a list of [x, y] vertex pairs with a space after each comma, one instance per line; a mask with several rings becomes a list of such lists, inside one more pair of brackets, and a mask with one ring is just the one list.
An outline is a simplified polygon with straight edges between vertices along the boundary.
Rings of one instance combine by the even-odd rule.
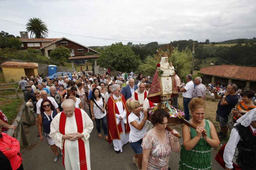
[[[181, 80], [185, 80], [186, 75], [190, 73], [191, 58], [191, 50], [186, 48], [180, 52], [178, 47], [174, 48], [172, 56], [168, 58], [168, 62], [173, 63], [173, 66], [178, 71], [178, 76]], [[156, 64], [159, 62], [160, 61], [156, 55], [147, 56], [144, 62], [139, 66], [139, 72], [153, 77], [156, 71]], [[197, 60], [194, 60], [194, 62], [196, 63]]]

